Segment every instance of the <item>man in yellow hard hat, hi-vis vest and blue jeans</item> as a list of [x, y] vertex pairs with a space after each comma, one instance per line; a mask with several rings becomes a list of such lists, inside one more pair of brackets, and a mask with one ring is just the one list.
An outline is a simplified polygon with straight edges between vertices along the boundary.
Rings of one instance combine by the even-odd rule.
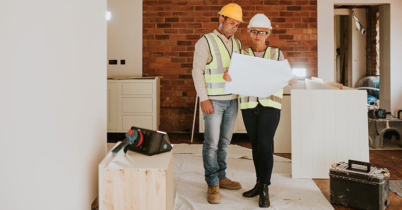
[[203, 161], [208, 184], [207, 200], [220, 203], [219, 188], [240, 189], [237, 181], [226, 177], [226, 155], [238, 112], [237, 94], [223, 91], [224, 72], [229, 68], [233, 50], [241, 49], [234, 34], [242, 21], [242, 9], [228, 4], [218, 13], [219, 26], [195, 44], [192, 77], [204, 113]]

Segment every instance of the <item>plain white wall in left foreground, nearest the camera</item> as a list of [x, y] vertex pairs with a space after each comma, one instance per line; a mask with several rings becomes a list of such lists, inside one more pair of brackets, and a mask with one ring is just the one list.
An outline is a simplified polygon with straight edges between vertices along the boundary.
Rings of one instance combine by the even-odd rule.
[[0, 209], [89, 209], [106, 155], [106, 0], [2, 1]]

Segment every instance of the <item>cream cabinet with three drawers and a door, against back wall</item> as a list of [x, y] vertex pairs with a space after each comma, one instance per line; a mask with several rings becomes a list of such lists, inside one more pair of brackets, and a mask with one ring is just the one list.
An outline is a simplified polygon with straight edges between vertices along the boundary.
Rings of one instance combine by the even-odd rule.
[[158, 130], [160, 77], [108, 79], [108, 132], [124, 133], [131, 126]]

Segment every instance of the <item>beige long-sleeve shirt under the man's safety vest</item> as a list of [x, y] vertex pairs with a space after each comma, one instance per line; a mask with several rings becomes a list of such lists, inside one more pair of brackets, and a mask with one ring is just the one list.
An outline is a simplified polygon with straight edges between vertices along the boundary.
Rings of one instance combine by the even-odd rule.
[[[228, 49], [230, 56], [232, 56], [232, 39], [231, 37], [226, 38], [225, 35], [214, 30], [214, 34], [222, 39], [226, 48]], [[204, 80], [204, 71], [207, 63], [211, 62], [212, 56], [210, 52], [210, 47], [208, 46], [208, 41], [205, 37], [202, 37], [195, 43], [194, 58], [192, 62], [192, 79], [194, 81], [195, 90], [199, 96], [199, 101], [204, 101], [208, 99], [215, 100], [231, 100], [237, 98], [237, 94], [229, 95], [207, 95], [207, 89]]]

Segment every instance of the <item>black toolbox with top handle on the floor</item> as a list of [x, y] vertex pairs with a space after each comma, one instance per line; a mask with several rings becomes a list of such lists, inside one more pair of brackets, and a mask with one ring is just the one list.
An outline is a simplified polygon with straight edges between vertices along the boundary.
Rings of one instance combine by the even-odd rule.
[[349, 160], [330, 168], [330, 201], [357, 209], [383, 210], [389, 204], [389, 171]]

